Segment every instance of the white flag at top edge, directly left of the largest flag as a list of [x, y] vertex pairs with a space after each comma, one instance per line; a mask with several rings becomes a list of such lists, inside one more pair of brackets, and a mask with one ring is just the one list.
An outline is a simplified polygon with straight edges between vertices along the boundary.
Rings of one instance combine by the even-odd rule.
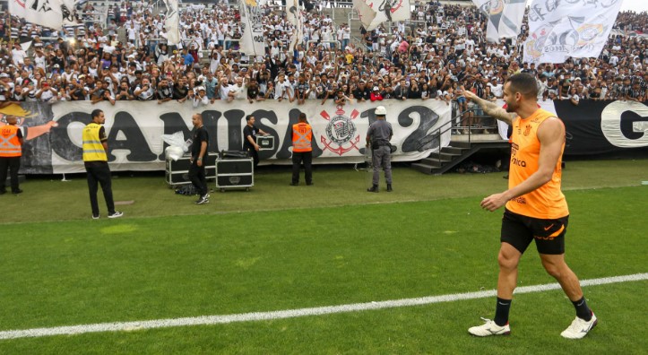
[[526, 0], [490, 0], [486, 39], [512, 39], [520, 34]]

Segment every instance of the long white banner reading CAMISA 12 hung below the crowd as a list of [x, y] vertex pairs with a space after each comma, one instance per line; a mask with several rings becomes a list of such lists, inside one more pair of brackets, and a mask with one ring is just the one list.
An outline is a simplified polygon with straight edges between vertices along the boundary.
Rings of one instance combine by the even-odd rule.
[[[449, 127], [450, 108], [439, 100], [382, 101], [387, 108], [386, 119], [393, 126], [391, 143], [398, 149], [393, 161], [427, 158], [430, 152], [450, 143], [450, 130], [440, 137], [436, 130]], [[82, 172], [82, 128], [90, 122], [93, 109], [102, 109], [106, 116], [108, 157], [114, 170], [163, 170], [162, 134], [184, 133], [191, 137], [191, 117], [203, 114], [210, 134], [210, 151], [240, 151], [246, 115], [254, 115], [256, 126], [274, 137], [275, 146], [259, 153], [263, 164], [289, 164], [292, 150], [292, 125], [301, 112], [313, 126], [315, 164], [355, 163], [364, 161], [367, 128], [376, 120], [373, 102], [324, 105], [308, 100], [304, 105], [278, 101], [250, 105], [247, 100], [230, 103], [217, 101], [194, 108], [190, 102], [119, 101], [112, 106], [105, 102], [91, 105], [88, 101], [60, 102], [51, 106], [56, 128], [49, 136], [52, 173]], [[39, 153], [40, 158], [49, 152]], [[42, 163], [41, 163], [42, 164]]]

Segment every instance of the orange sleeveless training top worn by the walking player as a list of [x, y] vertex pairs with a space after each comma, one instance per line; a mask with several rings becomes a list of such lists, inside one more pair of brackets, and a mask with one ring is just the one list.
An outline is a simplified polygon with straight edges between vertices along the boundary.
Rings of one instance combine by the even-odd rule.
[[[531, 174], [538, 170], [540, 157], [540, 141], [538, 127], [544, 120], [556, 115], [539, 108], [531, 117], [515, 118], [513, 134], [511, 135], [511, 168], [508, 177], [508, 187], [520, 185]], [[521, 195], [506, 203], [506, 208], [524, 216], [546, 220], [565, 217], [569, 214], [565, 195], [560, 191], [562, 170], [560, 169], [562, 155], [565, 151], [563, 142], [560, 158], [554, 167], [551, 180], [543, 186], [526, 195]]]

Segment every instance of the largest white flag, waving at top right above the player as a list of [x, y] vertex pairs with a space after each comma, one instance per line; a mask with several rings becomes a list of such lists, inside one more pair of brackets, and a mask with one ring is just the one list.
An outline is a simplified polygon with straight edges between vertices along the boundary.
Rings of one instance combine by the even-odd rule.
[[533, 0], [524, 62], [564, 63], [567, 58], [596, 57], [608, 40], [622, 0]]

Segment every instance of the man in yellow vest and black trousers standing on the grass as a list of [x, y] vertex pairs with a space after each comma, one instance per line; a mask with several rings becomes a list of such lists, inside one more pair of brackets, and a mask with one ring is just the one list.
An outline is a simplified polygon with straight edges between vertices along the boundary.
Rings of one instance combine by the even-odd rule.
[[108, 207], [108, 218], [119, 218], [124, 215], [115, 211], [113, 201], [112, 181], [110, 168], [108, 167], [108, 136], [106, 129], [102, 126], [106, 117], [100, 109], [92, 111], [92, 122], [83, 128], [83, 165], [88, 172], [88, 191], [90, 192], [90, 204], [92, 208], [92, 219], [99, 220], [99, 203], [97, 202], [98, 183], [101, 184], [103, 197]]

